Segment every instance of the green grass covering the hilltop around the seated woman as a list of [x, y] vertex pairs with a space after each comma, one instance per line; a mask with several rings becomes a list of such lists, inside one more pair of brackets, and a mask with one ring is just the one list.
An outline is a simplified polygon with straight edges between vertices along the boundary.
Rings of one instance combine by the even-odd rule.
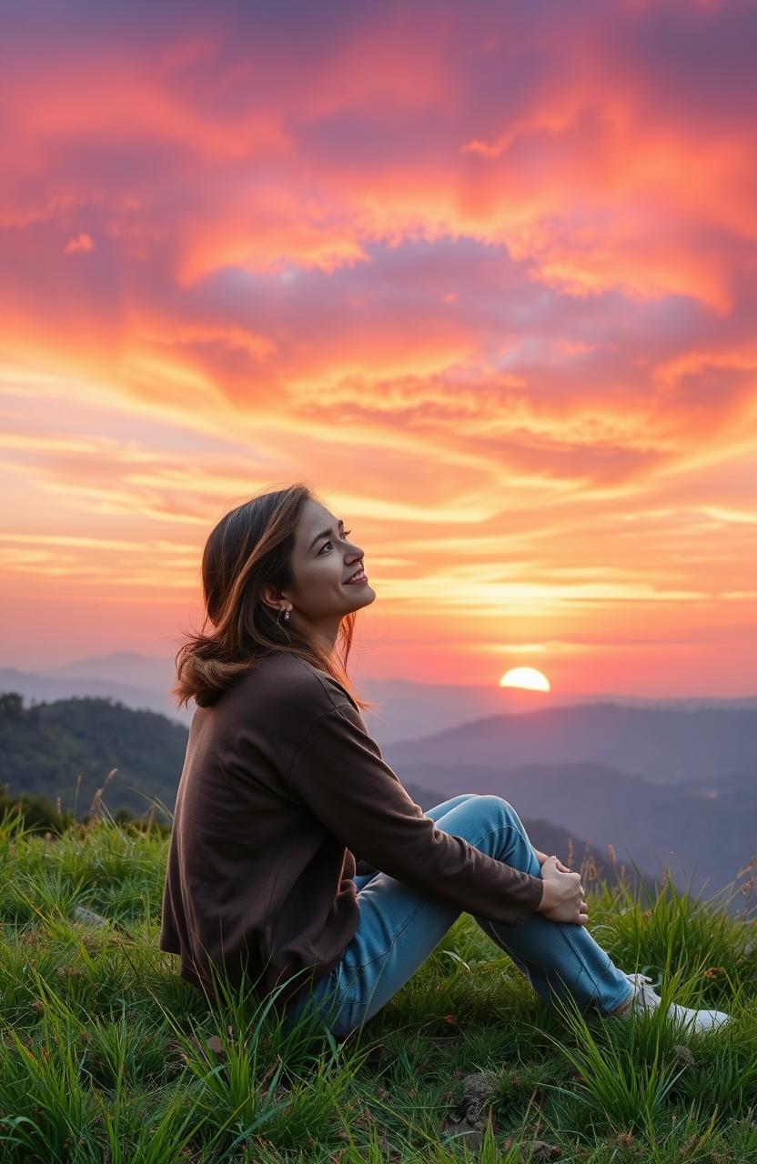
[[[338, 1043], [249, 995], [211, 1006], [178, 978], [157, 949], [165, 854], [164, 837], [107, 814], [47, 839], [0, 821], [0, 1164], [757, 1158], [745, 903], [589, 889], [617, 965], [734, 1016], [686, 1045], [662, 1008], [621, 1022], [545, 1005], [467, 915]], [[73, 922], [77, 906], [109, 924]], [[471, 1074], [488, 1087], [477, 1143], [455, 1123]]]

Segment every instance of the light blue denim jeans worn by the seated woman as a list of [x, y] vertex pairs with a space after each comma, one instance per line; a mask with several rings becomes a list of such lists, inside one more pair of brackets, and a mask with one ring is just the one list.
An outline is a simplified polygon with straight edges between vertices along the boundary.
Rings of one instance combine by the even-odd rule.
[[[424, 814], [437, 828], [515, 868], [540, 875], [539, 861], [511, 804], [500, 796], [466, 793]], [[313, 1008], [337, 1038], [366, 1023], [408, 981], [460, 916], [454, 904], [431, 899], [385, 873], [356, 876], [360, 922], [337, 963], [295, 1002], [290, 1022]], [[542, 914], [515, 925], [474, 921], [505, 951], [537, 994], [571, 994], [609, 1014], [632, 994], [625, 974], [585, 925], [552, 922]]]

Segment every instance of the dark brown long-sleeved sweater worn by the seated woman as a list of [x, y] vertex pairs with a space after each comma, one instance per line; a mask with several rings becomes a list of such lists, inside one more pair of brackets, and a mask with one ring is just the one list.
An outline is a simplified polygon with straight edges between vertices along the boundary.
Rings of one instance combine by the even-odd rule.
[[[355, 856], [494, 922], [533, 914], [544, 882], [423, 815], [325, 672], [270, 655], [197, 708], [176, 795], [158, 945], [212, 995], [211, 967], [286, 1009], [358, 929]], [[299, 973], [297, 973], [299, 972]], [[291, 980], [291, 975], [297, 978]]]

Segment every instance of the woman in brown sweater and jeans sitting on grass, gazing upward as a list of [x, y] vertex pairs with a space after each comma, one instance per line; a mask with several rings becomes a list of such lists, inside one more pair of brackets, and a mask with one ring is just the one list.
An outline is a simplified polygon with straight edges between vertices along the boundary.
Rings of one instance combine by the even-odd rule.
[[[658, 1006], [589, 935], [579, 874], [532, 847], [507, 801], [468, 793], [424, 814], [383, 760], [346, 673], [355, 612], [376, 597], [351, 532], [295, 484], [207, 540], [205, 624], [177, 653], [174, 694], [197, 708], [161, 949], [210, 995], [222, 972], [342, 1038], [466, 910], [545, 1001]], [[671, 1010], [692, 1030], [728, 1017]]]

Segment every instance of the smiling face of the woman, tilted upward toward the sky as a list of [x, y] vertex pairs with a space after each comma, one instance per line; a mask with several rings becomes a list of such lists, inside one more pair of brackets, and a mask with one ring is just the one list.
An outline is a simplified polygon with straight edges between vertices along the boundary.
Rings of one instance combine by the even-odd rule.
[[282, 591], [282, 601], [292, 606], [290, 623], [303, 620], [333, 638], [345, 615], [374, 601], [367, 579], [349, 581], [365, 573], [363, 552], [351, 533], [318, 502], [305, 502], [291, 556], [295, 587]]

